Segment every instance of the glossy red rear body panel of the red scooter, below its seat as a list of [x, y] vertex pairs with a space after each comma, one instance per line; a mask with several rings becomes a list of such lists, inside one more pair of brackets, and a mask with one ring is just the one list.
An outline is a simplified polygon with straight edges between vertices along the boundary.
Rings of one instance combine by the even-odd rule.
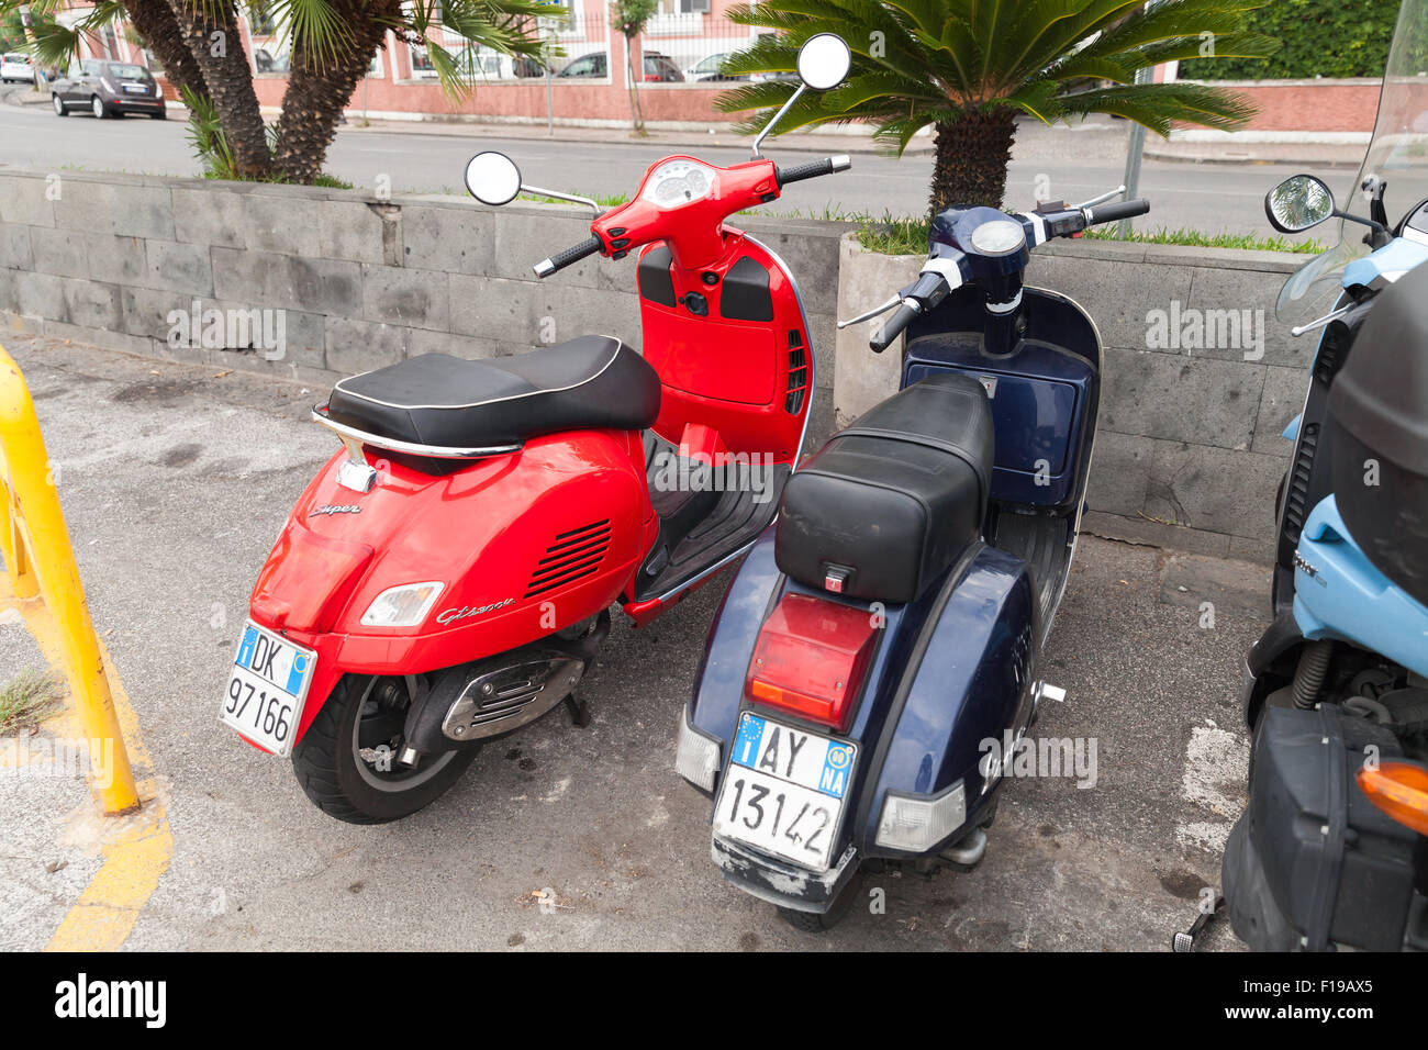
[[[297, 740], [341, 673], [423, 673], [533, 641], [608, 607], [644, 554], [638, 434], [555, 434], [444, 477], [373, 460], [368, 493], [337, 484], [340, 463], [297, 501], [250, 603], [254, 620], [317, 650]], [[314, 563], [320, 544], [373, 553], [351, 580]], [[361, 623], [384, 590], [428, 580], [446, 586], [421, 624]]]

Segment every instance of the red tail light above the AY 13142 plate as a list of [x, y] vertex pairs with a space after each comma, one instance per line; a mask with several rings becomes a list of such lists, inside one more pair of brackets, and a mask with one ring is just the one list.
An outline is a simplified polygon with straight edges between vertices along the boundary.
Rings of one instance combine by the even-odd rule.
[[844, 733], [873, 663], [875, 617], [808, 594], [784, 594], [764, 621], [744, 691]]

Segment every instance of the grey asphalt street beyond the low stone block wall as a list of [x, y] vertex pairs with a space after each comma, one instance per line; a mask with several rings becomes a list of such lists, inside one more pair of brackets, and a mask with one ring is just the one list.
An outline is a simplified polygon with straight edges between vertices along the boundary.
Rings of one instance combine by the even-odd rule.
[[[390, 127], [390, 126], [388, 126]], [[713, 139], [724, 146], [661, 147], [618, 141], [551, 141], [500, 137], [488, 127], [450, 126], [443, 134], [407, 130], [347, 127], [340, 130], [328, 156], [328, 169], [354, 186], [371, 187], [386, 177], [394, 193], [454, 193], [466, 161], [477, 149], [508, 153], [521, 166], [526, 181], [548, 189], [595, 196], [627, 196], [645, 167], [671, 151], [695, 151], [717, 164], [747, 159], [748, 149]], [[450, 131], [456, 133], [450, 133]], [[1127, 124], [1107, 121], [1080, 129], [1045, 129], [1024, 124], [1018, 133], [1008, 173], [1010, 207], [1031, 206], [1037, 190], [1078, 201], [1121, 183], [1125, 166]], [[61, 171], [130, 171], [191, 176], [197, 173], [184, 123], [170, 119], [94, 120], [71, 114], [60, 120], [43, 106], [0, 104], [0, 160]], [[765, 153], [778, 159], [794, 140], [770, 140]], [[803, 153], [793, 153], [805, 159]], [[853, 170], [833, 179], [790, 187], [774, 210], [820, 217], [825, 211], [873, 216], [915, 214], [924, 207], [932, 161], [927, 154], [901, 160], [860, 153]], [[1351, 174], [1334, 169], [1281, 164], [1192, 164], [1147, 161], [1141, 196], [1152, 201], [1140, 229], [1192, 229], [1207, 233], [1258, 233], [1272, 230], [1264, 219], [1265, 190], [1298, 170], [1321, 174], [1335, 190], [1347, 190]]]

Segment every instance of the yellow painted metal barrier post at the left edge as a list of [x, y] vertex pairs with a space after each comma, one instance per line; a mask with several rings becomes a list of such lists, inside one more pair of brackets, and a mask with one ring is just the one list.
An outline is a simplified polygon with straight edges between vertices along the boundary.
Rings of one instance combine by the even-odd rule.
[[[0, 553], [16, 594], [40, 593], [60, 629], [60, 649], [70, 693], [79, 704], [80, 723], [99, 754], [113, 741], [113, 776], [109, 787], [93, 781], [97, 801], [107, 816], [139, 807], [134, 773], [129, 766], [124, 737], [114, 714], [114, 700], [104, 676], [104, 659], [94, 637], [84, 586], [74, 564], [70, 531], [50, 477], [50, 460], [40, 434], [40, 420], [24, 376], [0, 347]], [[96, 751], [91, 749], [90, 751]]]

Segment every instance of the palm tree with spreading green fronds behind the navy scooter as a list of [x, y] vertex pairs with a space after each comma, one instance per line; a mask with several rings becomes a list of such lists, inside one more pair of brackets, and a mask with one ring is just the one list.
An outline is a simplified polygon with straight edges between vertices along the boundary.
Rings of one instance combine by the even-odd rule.
[[[1265, 0], [760, 0], [728, 17], [774, 30], [734, 54], [728, 73], [794, 70], [798, 47], [837, 33], [854, 51], [837, 89], [805, 93], [781, 131], [871, 123], [898, 156], [935, 130], [931, 207], [1001, 206], [1020, 114], [1044, 123], [1088, 113], [1128, 117], [1162, 136], [1171, 121], [1231, 129], [1252, 114], [1242, 97], [1202, 84], [1137, 84], [1135, 71], [1175, 59], [1265, 56], [1275, 40], [1245, 30]], [[1107, 84], [1105, 81], [1110, 81]], [[795, 84], [755, 81], [720, 97], [725, 113], [755, 110], [763, 127]]]

